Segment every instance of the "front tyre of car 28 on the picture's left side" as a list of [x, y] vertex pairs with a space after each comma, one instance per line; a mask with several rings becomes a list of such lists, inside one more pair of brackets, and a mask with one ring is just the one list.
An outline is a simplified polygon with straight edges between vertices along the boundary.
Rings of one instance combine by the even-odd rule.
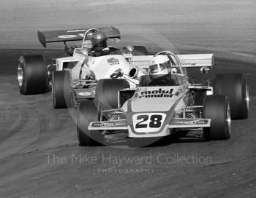
[[100, 131], [88, 130], [90, 122], [98, 121], [98, 111], [93, 100], [80, 103], [77, 116], [79, 146], [102, 146], [104, 135]]

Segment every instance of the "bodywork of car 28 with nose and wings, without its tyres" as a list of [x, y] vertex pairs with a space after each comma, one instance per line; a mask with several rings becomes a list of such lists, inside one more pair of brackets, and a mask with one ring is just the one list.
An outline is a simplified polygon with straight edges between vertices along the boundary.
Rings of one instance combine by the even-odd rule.
[[[105, 109], [101, 112], [103, 117], [113, 117], [113, 114], [118, 114], [120, 119], [91, 122], [89, 130], [127, 130], [129, 138], [148, 138], [170, 135], [178, 128], [210, 127], [211, 119], [202, 117], [203, 106], [194, 105], [192, 92], [205, 90], [208, 95], [212, 95], [213, 88], [189, 84], [184, 68], [188, 66], [209, 68], [214, 61], [213, 55], [189, 55], [191, 58], [194, 57], [194, 62], [185, 63], [179, 60], [177, 55], [171, 52], [167, 52], [167, 54], [173, 58], [173, 62], [178, 68], [176, 74], [170, 74], [174, 79], [174, 84], [148, 86], [145, 79], [148, 80], [150, 77], [148, 75], [141, 76], [138, 87], [120, 90], [120, 98], [123, 92], [131, 92], [131, 90], [134, 92], [132, 97], [124, 103], [119, 98], [118, 106], [120, 108]], [[185, 55], [179, 55], [179, 57], [185, 58]], [[204, 63], [200, 65], [202, 60]], [[197, 114], [189, 116], [188, 113], [191, 110], [195, 110], [194, 112]]]

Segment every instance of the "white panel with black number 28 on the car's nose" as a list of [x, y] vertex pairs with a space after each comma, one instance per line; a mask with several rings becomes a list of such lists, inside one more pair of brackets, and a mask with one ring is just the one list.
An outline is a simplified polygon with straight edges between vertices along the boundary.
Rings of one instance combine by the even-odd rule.
[[155, 132], [162, 127], [165, 117], [162, 113], [135, 114], [132, 116], [133, 127], [137, 132]]

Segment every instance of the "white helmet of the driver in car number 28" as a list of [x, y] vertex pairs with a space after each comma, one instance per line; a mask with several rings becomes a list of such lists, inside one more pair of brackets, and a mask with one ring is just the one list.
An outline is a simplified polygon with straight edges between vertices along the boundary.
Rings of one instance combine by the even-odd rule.
[[148, 74], [151, 79], [165, 76], [171, 72], [171, 66], [167, 55], [156, 55], [149, 63]]

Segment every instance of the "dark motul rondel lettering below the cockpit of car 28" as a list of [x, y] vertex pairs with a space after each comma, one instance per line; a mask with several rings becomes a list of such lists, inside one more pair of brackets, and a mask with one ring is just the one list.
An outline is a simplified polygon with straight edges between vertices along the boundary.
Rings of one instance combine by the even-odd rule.
[[170, 90], [139, 90], [135, 93], [135, 98], [172, 98], [173, 89]]

